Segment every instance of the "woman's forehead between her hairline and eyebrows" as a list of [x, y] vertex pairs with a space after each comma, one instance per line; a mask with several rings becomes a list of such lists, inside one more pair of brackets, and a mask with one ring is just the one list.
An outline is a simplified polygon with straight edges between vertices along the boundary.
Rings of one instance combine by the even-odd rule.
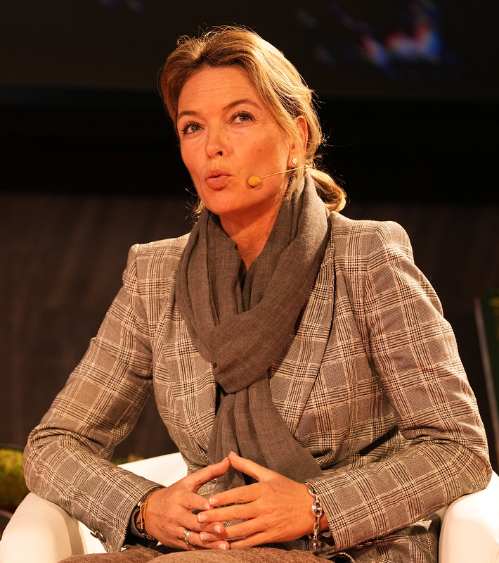
[[246, 70], [237, 66], [207, 66], [186, 80], [180, 91], [178, 114], [196, 111], [205, 104], [214, 108], [238, 99], [251, 99], [263, 105]]

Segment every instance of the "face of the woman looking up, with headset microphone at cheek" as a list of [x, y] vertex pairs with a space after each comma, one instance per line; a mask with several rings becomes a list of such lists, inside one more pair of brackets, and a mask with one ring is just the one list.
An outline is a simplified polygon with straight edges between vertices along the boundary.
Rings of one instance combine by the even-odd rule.
[[197, 194], [222, 224], [275, 217], [288, 175], [264, 178], [254, 188], [247, 180], [291, 168], [298, 153], [245, 70], [226, 66], [197, 71], [181, 90], [176, 126]]

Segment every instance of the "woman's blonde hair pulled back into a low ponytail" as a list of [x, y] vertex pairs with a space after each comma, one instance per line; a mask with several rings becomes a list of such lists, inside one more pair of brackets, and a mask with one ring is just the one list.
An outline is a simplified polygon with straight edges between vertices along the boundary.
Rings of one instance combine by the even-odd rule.
[[[247, 72], [268, 111], [301, 151], [290, 191], [302, 179], [306, 168], [326, 207], [331, 211], [342, 210], [346, 204], [344, 190], [327, 172], [316, 167], [323, 134], [313, 103], [313, 91], [283, 53], [252, 30], [216, 27], [200, 37], [179, 39], [160, 73], [164, 105], [174, 125], [179, 96], [186, 81], [205, 66], [230, 65], [238, 65]], [[299, 115], [306, 120], [308, 129], [305, 148], [294, 121]]]

